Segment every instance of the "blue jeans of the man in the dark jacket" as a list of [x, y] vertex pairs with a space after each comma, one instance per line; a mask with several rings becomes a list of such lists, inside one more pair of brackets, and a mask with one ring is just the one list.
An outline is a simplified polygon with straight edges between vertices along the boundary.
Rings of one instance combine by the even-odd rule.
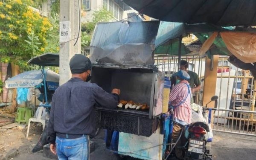
[[56, 137], [56, 151], [59, 160], [89, 160], [89, 136], [76, 139]]

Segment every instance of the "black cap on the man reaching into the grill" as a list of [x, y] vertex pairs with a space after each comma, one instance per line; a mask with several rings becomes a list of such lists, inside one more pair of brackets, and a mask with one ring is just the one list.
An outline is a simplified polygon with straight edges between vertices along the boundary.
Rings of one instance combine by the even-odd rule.
[[72, 74], [80, 74], [91, 69], [91, 61], [84, 55], [76, 54], [70, 59], [70, 70]]

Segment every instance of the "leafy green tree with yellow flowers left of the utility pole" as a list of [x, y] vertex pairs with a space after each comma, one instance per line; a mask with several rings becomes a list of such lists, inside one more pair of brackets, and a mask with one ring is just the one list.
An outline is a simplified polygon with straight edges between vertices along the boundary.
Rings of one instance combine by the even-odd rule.
[[0, 0], [0, 61], [24, 67], [35, 55], [58, 52], [58, 39], [52, 38], [58, 29], [32, 5], [32, 0]]

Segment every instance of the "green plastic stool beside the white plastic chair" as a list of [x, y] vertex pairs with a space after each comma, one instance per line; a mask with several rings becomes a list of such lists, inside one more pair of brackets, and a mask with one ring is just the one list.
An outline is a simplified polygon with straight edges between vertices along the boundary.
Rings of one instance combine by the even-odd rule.
[[31, 117], [33, 117], [32, 108], [18, 107], [15, 122], [17, 122], [18, 124], [20, 124], [20, 122], [26, 122], [26, 124], [28, 124], [29, 118]]

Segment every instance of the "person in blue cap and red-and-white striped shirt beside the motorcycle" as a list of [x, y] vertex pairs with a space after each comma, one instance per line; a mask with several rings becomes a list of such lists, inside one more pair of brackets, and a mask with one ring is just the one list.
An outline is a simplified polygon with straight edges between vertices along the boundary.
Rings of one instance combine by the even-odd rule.
[[[186, 71], [180, 70], [176, 73], [177, 83], [172, 88], [169, 96], [169, 106], [172, 106], [174, 111], [174, 121], [172, 139], [174, 142], [177, 141], [182, 125], [191, 123], [191, 89], [189, 86], [189, 74]], [[175, 154], [178, 159], [182, 159], [183, 153], [180, 140], [177, 142], [175, 147]]]

